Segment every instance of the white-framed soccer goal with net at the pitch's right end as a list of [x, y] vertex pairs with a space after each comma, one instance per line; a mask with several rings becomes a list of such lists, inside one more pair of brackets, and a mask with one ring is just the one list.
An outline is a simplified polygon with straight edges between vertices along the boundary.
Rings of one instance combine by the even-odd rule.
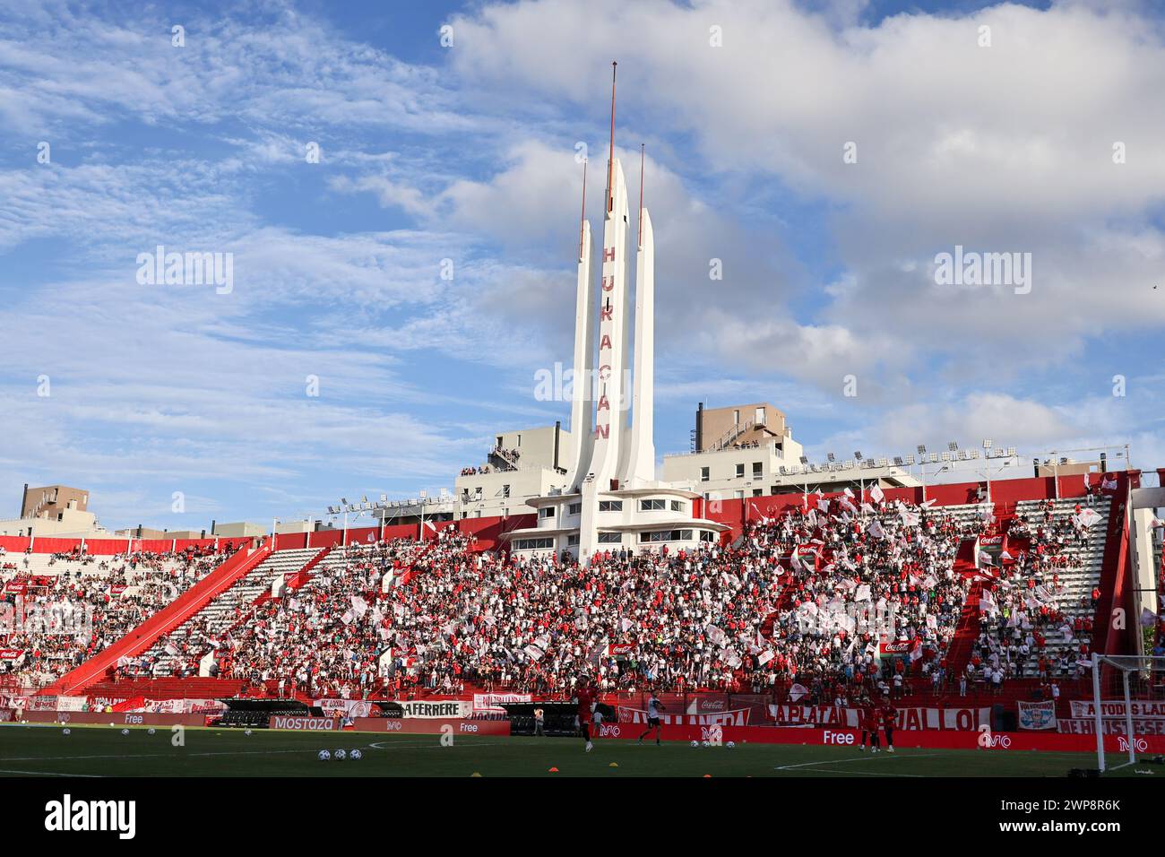
[[1092, 672], [1100, 772], [1134, 765], [1148, 747], [1146, 721], [1160, 718], [1146, 703], [1165, 702], [1165, 658], [1093, 654]]

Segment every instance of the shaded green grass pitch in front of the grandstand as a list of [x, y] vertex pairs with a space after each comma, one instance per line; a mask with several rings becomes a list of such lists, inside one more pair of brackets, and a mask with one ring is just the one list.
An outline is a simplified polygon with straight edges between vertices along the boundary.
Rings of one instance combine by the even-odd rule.
[[[903, 749], [871, 756], [853, 747], [740, 744], [692, 747], [664, 742], [372, 732], [290, 732], [256, 729], [185, 730], [172, 746], [169, 728], [0, 725], [0, 777], [1065, 777], [1095, 767], [1088, 753]], [[359, 749], [362, 759], [322, 761], [320, 750]], [[558, 768], [551, 772], [550, 768]], [[1113, 772], [1135, 777], [1165, 768], [1135, 765]], [[1150, 779], [1143, 777], [1143, 779]]]

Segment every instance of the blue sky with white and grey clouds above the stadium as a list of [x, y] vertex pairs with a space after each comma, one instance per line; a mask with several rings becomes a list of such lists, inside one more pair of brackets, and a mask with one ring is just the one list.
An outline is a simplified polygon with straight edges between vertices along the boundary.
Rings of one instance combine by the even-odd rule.
[[[574, 152], [603, 162], [613, 58], [661, 454], [698, 401], [767, 400], [814, 456], [1165, 463], [1152, 3], [2, 2], [7, 513], [26, 482], [110, 527], [318, 513], [565, 421], [534, 378], [570, 359]], [[139, 283], [160, 244], [233, 254], [233, 289]], [[955, 245], [1031, 253], [1030, 293], [938, 285]]]

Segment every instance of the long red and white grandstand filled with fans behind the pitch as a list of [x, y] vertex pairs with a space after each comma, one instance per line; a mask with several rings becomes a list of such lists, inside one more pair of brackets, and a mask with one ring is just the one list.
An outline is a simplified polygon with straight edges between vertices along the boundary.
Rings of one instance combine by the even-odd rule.
[[876, 485], [723, 500], [694, 512], [723, 527], [714, 542], [589, 566], [508, 552], [532, 515], [219, 542], [5, 536], [3, 599], [26, 621], [0, 639], [3, 711], [214, 718], [266, 698], [496, 717], [492, 701], [570, 700], [591, 675], [620, 722], [655, 690], [677, 724], [845, 723], [874, 697], [969, 712], [968, 729], [1015, 729], [1032, 704], [1083, 730], [1093, 652], [1160, 652], [1160, 527], [1130, 526], [1160, 489], [1137, 471], [1055, 482], [997, 482], [991, 503], [977, 483], [926, 501]]

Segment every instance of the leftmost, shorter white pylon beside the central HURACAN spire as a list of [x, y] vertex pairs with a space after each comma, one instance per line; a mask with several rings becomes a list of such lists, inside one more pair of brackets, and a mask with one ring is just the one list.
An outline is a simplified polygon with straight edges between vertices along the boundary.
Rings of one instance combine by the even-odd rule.
[[591, 224], [586, 220], [586, 162], [582, 164], [582, 223], [579, 227], [578, 294], [574, 301], [574, 372], [571, 380], [571, 437], [567, 491], [579, 491], [589, 472], [594, 444], [594, 281], [591, 279]]

